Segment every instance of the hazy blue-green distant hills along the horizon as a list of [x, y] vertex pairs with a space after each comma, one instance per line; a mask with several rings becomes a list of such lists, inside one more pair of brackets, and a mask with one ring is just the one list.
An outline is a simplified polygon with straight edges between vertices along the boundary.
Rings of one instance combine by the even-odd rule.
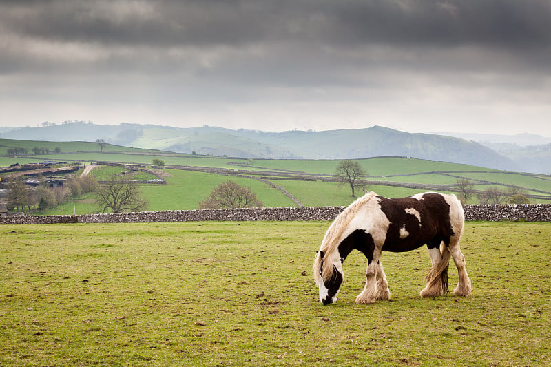
[[410, 134], [386, 127], [324, 132], [258, 132], [221, 127], [176, 128], [156, 125], [65, 123], [26, 127], [1, 138], [95, 141], [180, 153], [240, 158], [348, 159], [407, 156], [495, 169], [521, 170], [512, 160], [479, 143], [435, 134]]

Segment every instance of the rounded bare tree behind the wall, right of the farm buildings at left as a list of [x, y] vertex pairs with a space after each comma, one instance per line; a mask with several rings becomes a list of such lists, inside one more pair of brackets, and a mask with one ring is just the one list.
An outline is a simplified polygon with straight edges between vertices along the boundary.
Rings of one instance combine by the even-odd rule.
[[122, 211], [143, 211], [147, 208], [147, 200], [138, 191], [138, 184], [118, 176], [101, 185], [97, 191], [98, 206], [105, 213], [111, 209], [114, 213]]

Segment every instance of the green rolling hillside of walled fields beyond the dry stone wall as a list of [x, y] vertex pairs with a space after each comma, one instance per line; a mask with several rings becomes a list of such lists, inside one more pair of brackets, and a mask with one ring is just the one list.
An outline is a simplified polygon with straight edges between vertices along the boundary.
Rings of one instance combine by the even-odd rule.
[[[28, 153], [9, 154], [8, 151], [14, 147], [27, 149]], [[40, 149], [34, 153], [34, 147], [45, 148], [45, 151]], [[126, 167], [122, 167], [125, 165], [150, 167], [154, 158], [165, 162], [163, 178], [166, 185], [141, 185], [145, 198], [150, 202], [148, 210], [152, 211], [197, 209], [198, 202], [226, 180], [251, 187], [269, 207], [348, 205], [353, 200], [349, 188], [339, 185], [333, 178], [339, 160], [229, 158], [110, 144], [101, 149], [98, 143], [92, 142], [0, 139], [1, 167], [45, 160], [83, 162], [85, 165], [90, 165], [90, 162], [118, 162], [118, 167], [101, 165], [94, 169], [92, 174], [99, 180], [114, 172], [127, 171]], [[409, 196], [422, 191], [455, 193], [457, 179], [468, 178], [477, 192], [489, 187], [507, 192], [514, 186], [520, 187], [530, 202], [551, 200], [551, 178], [545, 175], [403, 157], [364, 158], [357, 162], [366, 172], [364, 181], [368, 189], [387, 197]], [[471, 198], [469, 203], [477, 200]], [[92, 213], [96, 210], [94, 198], [83, 196], [47, 213]]]

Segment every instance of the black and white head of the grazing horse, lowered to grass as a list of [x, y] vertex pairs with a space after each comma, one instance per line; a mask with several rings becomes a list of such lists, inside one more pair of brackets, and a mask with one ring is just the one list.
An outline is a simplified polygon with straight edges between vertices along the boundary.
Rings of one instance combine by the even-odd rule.
[[337, 302], [337, 292], [343, 280], [342, 258], [338, 253], [334, 256], [326, 255], [319, 251], [314, 261], [315, 283], [320, 289], [320, 301], [322, 304]]

